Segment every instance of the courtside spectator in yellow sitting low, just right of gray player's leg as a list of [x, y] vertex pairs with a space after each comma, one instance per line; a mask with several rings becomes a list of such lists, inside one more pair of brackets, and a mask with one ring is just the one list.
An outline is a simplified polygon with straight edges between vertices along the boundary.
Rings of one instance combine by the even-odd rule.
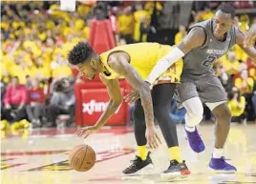
[[228, 108], [232, 114], [232, 122], [245, 121], [245, 96], [236, 87], [228, 92]]

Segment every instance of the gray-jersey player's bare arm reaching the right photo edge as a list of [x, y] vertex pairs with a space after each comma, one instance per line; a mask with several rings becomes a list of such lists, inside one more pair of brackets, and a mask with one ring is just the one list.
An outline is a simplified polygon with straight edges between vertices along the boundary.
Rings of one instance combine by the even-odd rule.
[[252, 45], [245, 47], [245, 33], [240, 29], [236, 30], [236, 44], [256, 62], [256, 49]]

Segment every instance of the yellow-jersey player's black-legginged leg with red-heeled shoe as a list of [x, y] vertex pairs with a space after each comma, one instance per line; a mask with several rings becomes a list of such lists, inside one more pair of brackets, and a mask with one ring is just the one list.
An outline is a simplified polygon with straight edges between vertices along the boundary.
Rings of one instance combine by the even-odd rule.
[[154, 114], [168, 146], [169, 157], [171, 160], [170, 166], [161, 174], [161, 176], [190, 174], [185, 163], [181, 159], [176, 123], [172, 122], [169, 115], [171, 100], [175, 89], [176, 84], [166, 83], [156, 85], [152, 90]]

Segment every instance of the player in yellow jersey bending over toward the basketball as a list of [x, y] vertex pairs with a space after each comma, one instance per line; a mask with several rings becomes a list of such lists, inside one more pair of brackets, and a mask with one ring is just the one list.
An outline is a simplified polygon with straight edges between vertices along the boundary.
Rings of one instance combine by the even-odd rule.
[[180, 82], [182, 60], [160, 76], [158, 83], [153, 87], [152, 95], [150, 88], [144, 82], [157, 61], [171, 50], [170, 46], [158, 43], [139, 43], [119, 46], [97, 55], [90, 45], [80, 42], [69, 53], [70, 64], [83, 75], [94, 79], [96, 74], [100, 73], [100, 79], [106, 85], [110, 96], [107, 110], [98, 119], [96, 125], [78, 130], [76, 132], [78, 136], [86, 137], [90, 133], [96, 133], [117, 111], [122, 101], [118, 78], [125, 78], [133, 89], [139, 91], [140, 99], [135, 102], [134, 111], [138, 155], [123, 174], [139, 174], [142, 170], [153, 167], [146, 145], [148, 143], [151, 148], [157, 148], [160, 144], [160, 138], [154, 126], [154, 114], [171, 158], [169, 168], [161, 176], [190, 174], [184, 161], [181, 160], [176, 125], [171, 122], [169, 116], [170, 101], [176, 84]]

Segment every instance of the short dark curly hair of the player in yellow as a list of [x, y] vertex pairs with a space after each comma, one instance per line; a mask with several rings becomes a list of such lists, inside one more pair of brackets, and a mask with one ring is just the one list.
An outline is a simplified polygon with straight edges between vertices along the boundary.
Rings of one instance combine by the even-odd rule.
[[95, 51], [86, 42], [79, 42], [72, 51], [70, 51], [68, 60], [70, 64], [77, 65], [87, 61]]

